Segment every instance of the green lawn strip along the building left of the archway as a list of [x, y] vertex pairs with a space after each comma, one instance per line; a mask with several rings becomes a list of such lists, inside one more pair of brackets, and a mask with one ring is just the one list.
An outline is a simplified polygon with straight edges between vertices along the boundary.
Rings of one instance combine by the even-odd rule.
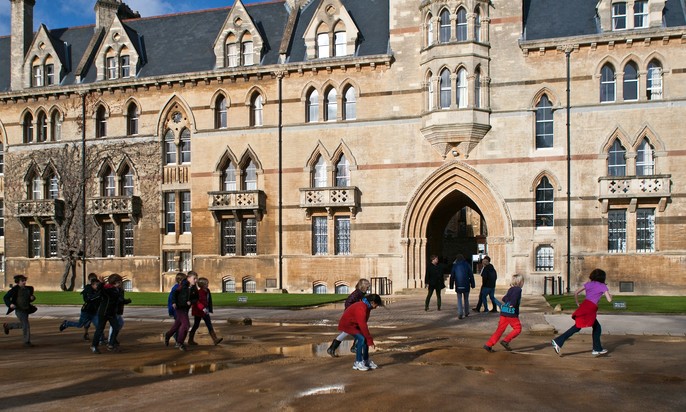
[[[36, 305], [81, 305], [79, 292], [36, 292]], [[168, 293], [126, 292], [134, 306], [167, 306]], [[214, 307], [299, 308], [341, 302], [348, 295], [313, 293], [213, 293]]]

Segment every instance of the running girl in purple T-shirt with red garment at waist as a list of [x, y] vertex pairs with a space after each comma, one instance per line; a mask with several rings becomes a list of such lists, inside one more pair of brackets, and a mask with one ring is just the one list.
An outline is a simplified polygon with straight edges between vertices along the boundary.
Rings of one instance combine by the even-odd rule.
[[[589, 326], [593, 327], [593, 351], [591, 354], [593, 356], [600, 356], [607, 353], [607, 349], [603, 349], [603, 345], [600, 344], [600, 334], [602, 329], [597, 319], [598, 302], [600, 302], [600, 298], [602, 298], [604, 295], [608, 302], [612, 302], [612, 295], [610, 295], [610, 291], [607, 289], [607, 285], [605, 284], [606, 277], [607, 274], [604, 270], [594, 269], [589, 275], [589, 279], [591, 281], [586, 282], [582, 287], [574, 292], [574, 300], [576, 301], [576, 306], [578, 306], [578, 309], [572, 313], [572, 319], [574, 319], [575, 323], [567, 330], [567, 332], [563, 333], [552, 341], [553, 349], [555, 349], [555, 352], [559, 356], [562, 356], [562, 345], [565, 344], [565, 341], [582, 328], [587, 328]], [[579, 305], [579, 293], [583, 292], [584, 290], [586, 291], [586, 298], [583, 302], [581, 302], [581, 305]]]

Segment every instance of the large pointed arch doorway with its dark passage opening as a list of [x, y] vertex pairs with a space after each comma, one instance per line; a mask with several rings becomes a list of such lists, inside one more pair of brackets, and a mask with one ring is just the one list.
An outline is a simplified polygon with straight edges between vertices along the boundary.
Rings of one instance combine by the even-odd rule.
[[[473, 227], [479, 227], [479, 233], [467, 233], [467, 230], [460, 233], [461, 215], [465, 217], [464, 222], [467, 217], [470, 222], [478, 222]], [[457, 241], [450, 239], [454, 228], [458, 229], [454, 234]], [[493, 185], [465, 163], [446, 163], [420, 184], [405, 210], [401, 227], [404, 286], [424, 286], [429, 255], [444, 256], [452, 262], [455, 254], [463, 253], [469, 259], [478, 253], [475, 249], [478, 242], [487, 245], [494, 265], [505, 274], [512, 233], [507, 205]]]

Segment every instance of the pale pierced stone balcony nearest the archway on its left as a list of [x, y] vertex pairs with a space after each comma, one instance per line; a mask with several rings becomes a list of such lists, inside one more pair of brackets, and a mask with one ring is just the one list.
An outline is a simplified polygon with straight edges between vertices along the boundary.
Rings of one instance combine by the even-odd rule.
[[308, 218], [315, 209], [325, 209], [329, 217], [333, 217], [336, 209], [348, 208], [354, 219], [360, 208], [360, 197], [355, 186], [309, 187], [300, 189], [300, 207], [305, 209]]

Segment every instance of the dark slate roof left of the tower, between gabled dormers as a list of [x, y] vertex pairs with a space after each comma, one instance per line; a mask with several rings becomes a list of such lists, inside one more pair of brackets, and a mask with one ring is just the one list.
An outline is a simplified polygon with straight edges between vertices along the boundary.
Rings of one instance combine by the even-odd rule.
[[[305, 60], [302, 38], [319, 1], [311, 1], [300, 11], [293, 31], [289, 63]], [[388, 53], [389, 0], [342, 0], [360, 30], [358, 56]], [[288, 20], [283, 1], [246, 5], [264, 40], [262, 65], [278, 63], [279, 46]], [[136, 47], [143, 53], [138, 78], [211, 71], [215, 65], [214, 41], [231, 8], [217, 8], [150, 18], [124, 20], [123, 24]], [[49, 30], [69, 72], [62, 85], [75, 84], [75, 72], [93, 37], [94, 25]], [[99, 47], [99, 43], [96, 45]], [[85, 70], [82, 83], [94, 83], [93, 62]], [[10, 37], [0, 37], [0, 92], [10, 91]]]

